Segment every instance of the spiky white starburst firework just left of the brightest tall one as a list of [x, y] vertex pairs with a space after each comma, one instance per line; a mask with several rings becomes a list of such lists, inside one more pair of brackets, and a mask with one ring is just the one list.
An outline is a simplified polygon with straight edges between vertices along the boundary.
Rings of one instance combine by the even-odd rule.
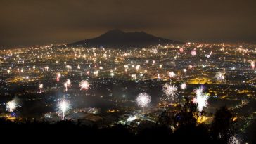
[[164, 100], [174, 100], [174, 97], [177, 96], [178, 89], [171, 82], [170, 84], [164, 84], [164, 86], [162, 86], [162, 91], [167, 96]]

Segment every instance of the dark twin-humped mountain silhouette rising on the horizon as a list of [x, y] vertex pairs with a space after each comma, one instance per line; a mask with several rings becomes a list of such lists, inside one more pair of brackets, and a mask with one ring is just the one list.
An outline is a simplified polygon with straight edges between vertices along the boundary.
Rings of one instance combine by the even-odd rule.
[[123, 32], [122, 30], [110, 30], [105, 34], [93, 39], [77, 41], [68, 46], [95, 46], [95, 47], [114, 47], [114, 48], [129, 48], [141, 47], [158, 44], [184, 44], [181, 41], [173, 41], [161, 37], [155, 37], [146, 32]]

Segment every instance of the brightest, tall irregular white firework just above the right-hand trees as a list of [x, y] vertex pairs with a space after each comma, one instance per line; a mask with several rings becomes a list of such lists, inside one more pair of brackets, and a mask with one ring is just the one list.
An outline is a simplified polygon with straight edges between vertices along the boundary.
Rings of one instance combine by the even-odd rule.
[[203, 107], [206, 107], [208, 105], [207, 103], [208, 98], [209, 98], [209, 94], [203, 93], [202, 87], [196, 89], [196, 98], [194, 99], [194, 102], [198, 103], [199, 112], [202, 112]]

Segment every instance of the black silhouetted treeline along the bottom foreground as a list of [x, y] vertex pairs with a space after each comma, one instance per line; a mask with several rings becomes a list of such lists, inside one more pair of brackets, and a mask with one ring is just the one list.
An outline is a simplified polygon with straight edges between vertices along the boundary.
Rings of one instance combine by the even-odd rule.
[[[226, 107], [220, 107], [211, 124], [198, 124], [195, 118], [197, 107], [190, 101], [175, 113], [164, 110], [155, 126], [145, 129], [134, 129], [131, 126], [115, 124], [114, 126], [84, 126], [79, 122], [11, 122], [0, 119], [1, 137], [35, 138], [36, 140], [105, 140], [123, 142], [130, 140], [165, 140], [166, 143], [229, 143], [234, 136], [233, 114]], [[256, 122], [246, 130], [245, 140], [255, 143]], [[7, 138], [7, 137], [6, 137]], [[46, 141], [47, 141], [46, 140]], [[120, 141], [122, 143], [122, 141]]]

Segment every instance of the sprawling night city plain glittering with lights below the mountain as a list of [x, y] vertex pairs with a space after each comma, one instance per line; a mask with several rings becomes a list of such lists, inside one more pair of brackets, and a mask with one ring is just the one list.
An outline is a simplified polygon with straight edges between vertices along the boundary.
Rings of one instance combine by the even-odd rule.
[[[209, 95], [203, 122], [212, 122], [216, 108], [226, 105], [236, 113], [235, 121], [243, 131], [256, 112], [252, 109], [256, 70], [251, 65], [255, 53], [256, 47], [248, 44], [194, 43], [128, 50], [54, 46], [6, 49], [1, 51], [1, 110], [5, 111], [12, 98], [21, 104], [13, 117], [8, 117], [8, 111], [1, 117], [58, 121], [62, 117], [56, 113], [56, 103], [65, 99], [72, 105], [65, 119], [87, 119], [84, 124], [129, 124], [131, 117], [155, 122], [162, 110], [179, 110], [184, 98], [193, 100], [196, 89], [203, 86]], [[215, 77], [218, 72], [224, 72], [225, 81]], [[68, 91], [64, 86], [67, 79]], [[162, 87], [170, 81], [178, 87], [176, 96], [167, 99], [172, 90], [165, 93]], [[179, 88], [184, 82], [186, 89]], [[147, 116], [135, 101], [142, 92], [152, 99], [145, 107]], [[118, 116], [113, 118], [113, 114]]]

